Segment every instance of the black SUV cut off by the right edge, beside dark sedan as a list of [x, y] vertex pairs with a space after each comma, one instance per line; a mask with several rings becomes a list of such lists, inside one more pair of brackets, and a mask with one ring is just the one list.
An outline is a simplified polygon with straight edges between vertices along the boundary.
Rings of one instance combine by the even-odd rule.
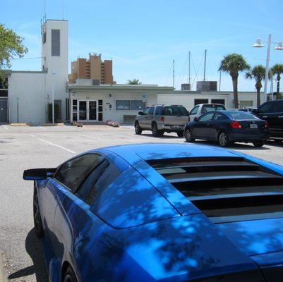
[[269, 123], [270, 139], [283, 140], [283, 100], [265, 102], [252, 113]]

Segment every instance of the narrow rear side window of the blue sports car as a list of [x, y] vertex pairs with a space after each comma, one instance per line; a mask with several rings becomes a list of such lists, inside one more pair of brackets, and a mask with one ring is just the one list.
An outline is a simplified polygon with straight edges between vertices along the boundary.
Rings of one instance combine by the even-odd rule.
[[95, 204], [99, 202], [100, 195], [107, 186], [113, 182], [113, 180], [120, 175], [119, 169], [110, 163], [107, 159], [104, 159], [102, 163], [97, 166], [92, 173], [85, 179], [77, 195], [87, 204]]

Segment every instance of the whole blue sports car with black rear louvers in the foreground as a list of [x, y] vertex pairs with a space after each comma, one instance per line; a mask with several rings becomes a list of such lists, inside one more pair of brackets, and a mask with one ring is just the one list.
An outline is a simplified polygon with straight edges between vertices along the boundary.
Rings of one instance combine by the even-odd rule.
[[283, 167], [188, 144], [27, 170], [49, 281], [283, 281]]

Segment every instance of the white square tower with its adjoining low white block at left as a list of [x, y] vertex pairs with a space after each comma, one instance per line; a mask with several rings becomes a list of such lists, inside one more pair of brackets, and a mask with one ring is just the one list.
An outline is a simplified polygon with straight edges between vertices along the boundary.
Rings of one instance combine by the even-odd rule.
[[66, 121], [68, 21], [47, 20], [42, 25], [42, 71], [6, 71], [6, 75], [8, 94], [0, 97], [0, 122], [46, 123], [52, 85], [57, 118]]

